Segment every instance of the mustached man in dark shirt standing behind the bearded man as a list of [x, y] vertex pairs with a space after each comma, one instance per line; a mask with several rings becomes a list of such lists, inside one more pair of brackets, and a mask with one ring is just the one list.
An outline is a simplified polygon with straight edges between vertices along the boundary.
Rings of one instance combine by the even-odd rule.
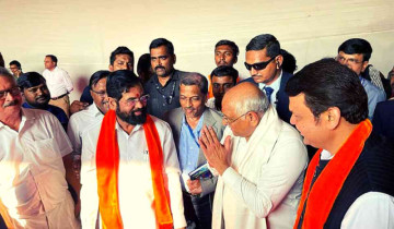
[[154, 74], [143, 85], [146, 93], [150, 95], [148, 113], [162, 119], [166, 111], [181, 107], [179, 81], [187, 72], [174, 69], [176, 56], [170, 40], [154, 39], [149, 50]]

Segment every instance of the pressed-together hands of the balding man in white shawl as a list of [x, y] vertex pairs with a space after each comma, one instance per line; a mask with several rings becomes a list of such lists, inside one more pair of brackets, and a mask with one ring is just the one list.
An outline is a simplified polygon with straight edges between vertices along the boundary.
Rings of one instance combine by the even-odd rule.
[[231, 165], [231, 136], [227, 136], [224, 145], [220, 144], [213, 129], [204, 125], [201, 136], [198, 140], [200, 147], [210, 167], [215, 168], [219, 174], [223, 174]]

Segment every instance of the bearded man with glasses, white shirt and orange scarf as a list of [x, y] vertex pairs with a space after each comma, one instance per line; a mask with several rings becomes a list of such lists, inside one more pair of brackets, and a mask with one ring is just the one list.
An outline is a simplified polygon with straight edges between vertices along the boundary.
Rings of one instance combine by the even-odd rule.
[[184, 228], [169, 124], [147, 113], [149, 95], [134, 72], [112, 72], [106, 91], [109, 110], [82, 135], [82, 228], [97, 220], [103, 228]]

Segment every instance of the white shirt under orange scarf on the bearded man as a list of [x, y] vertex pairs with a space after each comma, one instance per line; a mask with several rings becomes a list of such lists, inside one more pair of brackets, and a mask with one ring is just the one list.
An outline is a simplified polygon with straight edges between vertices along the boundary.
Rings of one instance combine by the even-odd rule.
[[[164, 183], [170, 192], [170, 207], [174, 228], [186, 226], [179, 182], [179, 165], [169, 124], [152, 117], [157, 126], [164, 158]], [[96, 143], [101, 123], [82, 136], [81, 221], [83, 228], [95, 228], [99, 213], [97, 179], [95, 168]], [[148, 145], [142, 125], [136, 125], [128, 135], [116, 123], [119, 145], [118, 196], [124, 228], [155, 229], [153, 189]], [[99, 220], [100, 221], [100, 220]]]

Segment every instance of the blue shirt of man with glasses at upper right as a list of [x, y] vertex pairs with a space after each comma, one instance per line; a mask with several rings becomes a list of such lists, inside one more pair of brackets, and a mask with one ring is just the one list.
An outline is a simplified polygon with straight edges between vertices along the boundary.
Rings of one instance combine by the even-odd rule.
[[375, 109], [378, 103], [385, 100], [385, 93], [382, 89], [380, 89], [379, 87], [376, 87], [375, 85], [373, 85], [368, 80], [366, 80], [361, 76], [359, 76], [359, 79], [360, 79], [361, 85], [366, 89], [367, 96], [368, 96], [368, 118], [370, 120], [372, 120], [373, 112], [374, 112], [374, 109]]

